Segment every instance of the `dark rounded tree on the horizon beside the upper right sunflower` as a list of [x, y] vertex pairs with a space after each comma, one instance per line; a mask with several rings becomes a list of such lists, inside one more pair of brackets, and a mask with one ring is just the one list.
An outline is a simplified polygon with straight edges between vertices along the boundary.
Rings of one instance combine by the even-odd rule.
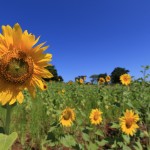
[[121, 83], [120, 76], [128, 72], [125, 68], [116, 67], [111, 73], [111, 83]]

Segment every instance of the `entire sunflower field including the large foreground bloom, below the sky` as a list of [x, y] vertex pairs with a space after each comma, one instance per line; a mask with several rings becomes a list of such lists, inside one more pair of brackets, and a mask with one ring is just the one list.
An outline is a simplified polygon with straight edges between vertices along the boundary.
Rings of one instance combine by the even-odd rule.
[[18, 23], [0, 34], [0, 150], [150, 150], [150, 82], [46, 83], [52, 55]]

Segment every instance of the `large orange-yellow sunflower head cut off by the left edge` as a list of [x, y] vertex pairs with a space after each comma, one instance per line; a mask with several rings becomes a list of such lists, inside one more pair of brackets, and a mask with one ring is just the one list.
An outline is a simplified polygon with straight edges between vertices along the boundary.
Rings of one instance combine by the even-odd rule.
[[48, 46], [39, 45], [39, 37], [27, 30], [22, 31], [16, 23], [14, 27], [2, 26], [0, 34], [0, 102], [13, 104], [23, 102], [22, 90], [27, 88], [35, 96], [35, 87], [44, 90], [42, 78], [51, 78], [45, 69], [51, 60], [51, 54], [43, 54]]

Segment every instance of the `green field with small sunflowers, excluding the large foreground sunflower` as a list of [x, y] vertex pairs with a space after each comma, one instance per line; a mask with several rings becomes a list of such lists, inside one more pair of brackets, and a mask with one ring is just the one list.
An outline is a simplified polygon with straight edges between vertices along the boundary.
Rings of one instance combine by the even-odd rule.
[[[150, 148], [150, 84], [48, 83], [34, 100], [15, 104], [10, 133], [14, 149], [147, 150]], [[4, 125], [5, 109], [0, 108]]]

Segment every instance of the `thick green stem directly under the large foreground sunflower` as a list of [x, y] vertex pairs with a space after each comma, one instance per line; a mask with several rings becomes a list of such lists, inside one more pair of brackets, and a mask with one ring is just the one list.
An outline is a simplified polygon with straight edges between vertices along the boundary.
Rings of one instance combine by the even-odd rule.
[[12, 107], [9, 104], [7, 104], [7, 106], [6, 106], [6, 120], [5, 120], [5, 134], [9, 134], [11, 111], [12, 111]]

